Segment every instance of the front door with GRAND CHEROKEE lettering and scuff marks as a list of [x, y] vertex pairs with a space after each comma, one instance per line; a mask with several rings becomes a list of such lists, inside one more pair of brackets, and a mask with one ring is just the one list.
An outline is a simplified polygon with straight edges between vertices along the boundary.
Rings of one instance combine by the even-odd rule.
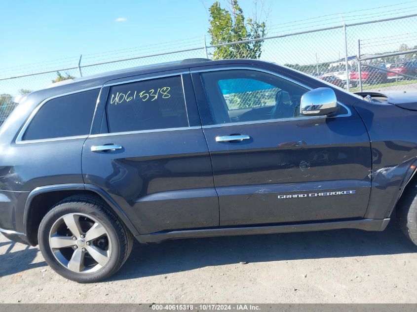
[[221, 226], [364, 216], [371, 148], [354, 109], [300, 116], [309, 89], [264, 69], [201, 68], [192, 75]]

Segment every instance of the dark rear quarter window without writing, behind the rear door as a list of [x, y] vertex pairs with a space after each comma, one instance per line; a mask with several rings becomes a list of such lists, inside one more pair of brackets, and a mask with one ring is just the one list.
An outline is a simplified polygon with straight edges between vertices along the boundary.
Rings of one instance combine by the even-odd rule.
[[46, 102], [32, 119], [23, 139], [88, 135], [99, 92], [100, 89], [78, 92]]

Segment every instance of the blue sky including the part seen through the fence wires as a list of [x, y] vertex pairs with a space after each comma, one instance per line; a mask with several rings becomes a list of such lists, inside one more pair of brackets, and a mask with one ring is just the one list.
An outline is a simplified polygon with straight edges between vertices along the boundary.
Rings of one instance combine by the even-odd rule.
[[[258, 0], [261, 1], [261, 0]], [[417, 0], [265, 0], [270, 6], [267, 35], [288, 34], [417, 13]], [[210, 43], [207, 8], [214, 0], [0, 0], [2, 14], [0, 77], [44, 74], [0, 80], [0, 94], [49, 85], [59, 69], [82, 75], [205, 57], [203, 35]], [[226, 0], [220, 0], [225, 6]], [[239, 0], [251, 16], [255, 0]], [[265, 17], [265, 16], [264, 16]], [[417, 45], [417, 17], [348, 27], [348, 54], [395, 51], [400, 43]], [[199, 50], [141, 58], [190, 47]], [[209, 49], [209, 57], [210, 57]], [[344, 56], [341, 29], [265, 40], [261, 59], [278, 64], [312, 65]], [[99, 66], [85, 65], [136, 58]]]

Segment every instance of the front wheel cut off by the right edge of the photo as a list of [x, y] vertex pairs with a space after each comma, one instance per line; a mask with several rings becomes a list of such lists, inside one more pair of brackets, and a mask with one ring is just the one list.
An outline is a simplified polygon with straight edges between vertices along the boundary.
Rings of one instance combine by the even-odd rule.
[[417, 245], [417, 183], [414, 181], [397, 204], [397, 220], [404, 234]]

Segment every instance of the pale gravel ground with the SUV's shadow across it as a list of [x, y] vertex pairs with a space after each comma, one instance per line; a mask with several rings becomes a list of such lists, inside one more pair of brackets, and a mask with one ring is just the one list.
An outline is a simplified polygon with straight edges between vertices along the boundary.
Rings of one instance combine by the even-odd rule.
[[1, 236], [0, 302], [417, 303], [417, 247], [395, 222], [384, 232], [136, 243], [110, 280], [77, 284], [38, 248]]

